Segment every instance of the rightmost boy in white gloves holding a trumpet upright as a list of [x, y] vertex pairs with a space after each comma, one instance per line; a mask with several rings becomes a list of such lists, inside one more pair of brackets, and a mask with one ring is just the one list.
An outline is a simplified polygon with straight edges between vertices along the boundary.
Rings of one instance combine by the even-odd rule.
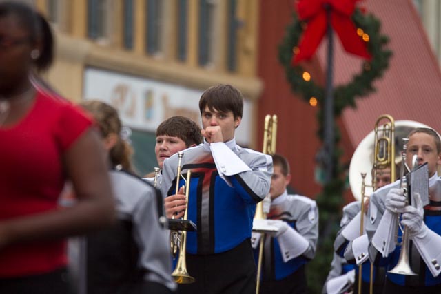
[[[437, 168], [441, 164], [441, 141], [439, 135], [429, 128], [417, 128], [409, 133], [406, 149], [407, 165], [411, 167], [412, 156], [418, 156], [418, 165], [428, 164], [429, 195], [431, 204], [422, 207], [419, 194], [413, 195], [416, 207], [407, 206], [400, 189], [400, 180], [377, 190], [371, 196], [369, 222], [369, 258], [371, 262], [390, 270], [398, 262], [401, 246], [395, 244], [397, 213], [402, 213], [402, 225], [409, 230], [413, 271], [417, 276], [386, 273], [384, 293], [440, 293], [440, 242], [441, 203], [440, 179]], [[417, 253], [418, 251], [418, 253]]]

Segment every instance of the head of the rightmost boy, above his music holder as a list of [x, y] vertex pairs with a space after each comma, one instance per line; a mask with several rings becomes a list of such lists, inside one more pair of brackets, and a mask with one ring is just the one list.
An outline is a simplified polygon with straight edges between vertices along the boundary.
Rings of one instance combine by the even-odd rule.
[[406, 161], [409, 167], [412, 167], [412, 157], [416, 154], [418, 165], [427, 162], [429, 167], [429, 176], [435, 174], [437, 165], [441, 165], [441, 154], [438, 154], [435, 145], [435, 138], [426, 133], [415, 133], [409, 138], [406, 149]]

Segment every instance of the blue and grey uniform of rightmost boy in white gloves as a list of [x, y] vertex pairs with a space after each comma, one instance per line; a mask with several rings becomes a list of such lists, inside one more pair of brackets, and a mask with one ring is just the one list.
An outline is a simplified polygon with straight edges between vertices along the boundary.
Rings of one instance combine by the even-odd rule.
[[[382, 187], [373, 193], [369, 204], [369, 222], [366, 227], [371, 240], [369, 255], [372, 261], [386, 266], [387, 270], [396, 266], [401, 246], [395, 242], [398, 215], [385, 209], [384, 197], [390, 189], [398, 188], [399, 185], [398, 180]], [[429, 179], [429, 194], [440, 193], [440, 187], [441, 179], [435, 174]], [[387, 280], [393, 285], [414, 289], [414, 293], [421, 293], [424, 288], [441, 286], [441, 211], [431, 209], [431, 204], [424, 207], [424, 224], [424, 233], [414, 236], [409, 242], [410, 265], [418, 275], [411, 277], [387, 273]], [[398, 235], [402, 235], [400, 230]]]

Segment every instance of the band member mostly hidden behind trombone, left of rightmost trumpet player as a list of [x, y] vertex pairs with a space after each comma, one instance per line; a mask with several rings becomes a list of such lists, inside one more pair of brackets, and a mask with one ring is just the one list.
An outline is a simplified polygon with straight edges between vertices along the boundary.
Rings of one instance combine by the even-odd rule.
[[[391, 168], [377, 169], [376, 171], [376, 185], [377, 189], [391, 182]], [[365, 213], [369, 207], [369, 198], [365, 202]], [[340, 231], [336, 235], [334, 242], [334, 250], [336, 253], [345, 258], [350, 264], [362, 264], [362, 293], [369, 293], [370, 279], [371, 279], [371, 264], [368, 261], [367, 247], [369, 241], [367, 235], [360, 236], [360, 201], [354, 201], [343, 207], [343, 216], [340, 221]], [[365, 222], [367, 217], [365, 216]], [[365, 227], [365, 225], [363, 226]], [[356, 246], [354, 246], [354, 244]], [[354, 252], [355, 251], [355, 252]], [[358, 253], [360, 251], [360, 253]], [[358, 258], [358, 257], [361, 258]], [[354, 292], [358, 293], [358, 266], [355, 268], [355, 284], [353, 286]], [[373, 293], [382, 293], [384, 284], [384, 269], [375, 266], [373, 269]]]

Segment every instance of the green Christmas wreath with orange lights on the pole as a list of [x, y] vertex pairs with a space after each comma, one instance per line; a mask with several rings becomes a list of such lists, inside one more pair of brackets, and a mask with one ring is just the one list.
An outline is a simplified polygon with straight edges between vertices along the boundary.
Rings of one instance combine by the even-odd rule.
[[[373, 14], [366, 14], [359, 8], [353, 9], [351, 13], [351, 21], [355, 25], [359, 38], [367, 45], [370, 60], [362, 64], [360, 74], [353, 76], [349, 83], [334, 88], [334, 114], [336, 116], [339, 116], [346, 106], [355, 107], [356, 97], [366, 96], [375, 91], [373, 81], [380, 78], [384, 70], [387, 70], [391, 57], [391, 51], [386, 48], [389, 38], [380, 34], [380, 21]], [[279, 47], [279, 61], [285, 67], [287, 80], [294, 92], [301, 94], [302, 98], [309, 103], [322, 103], [325, 99], [325, 90], [314, 82], [301, 65], [294, 61], [294, 56], [299, 51], [300, 38], [308, 25], [307, 20], [302, 21], [297, 14], [294, 14], [293, 21], [287, 27], [287, 33]], [[318, 46], [318, 43], [315, 45]], [[345, 47], [345, 44], [343, 46]], [[314, 98], [316, 101], [311, 101]]]

